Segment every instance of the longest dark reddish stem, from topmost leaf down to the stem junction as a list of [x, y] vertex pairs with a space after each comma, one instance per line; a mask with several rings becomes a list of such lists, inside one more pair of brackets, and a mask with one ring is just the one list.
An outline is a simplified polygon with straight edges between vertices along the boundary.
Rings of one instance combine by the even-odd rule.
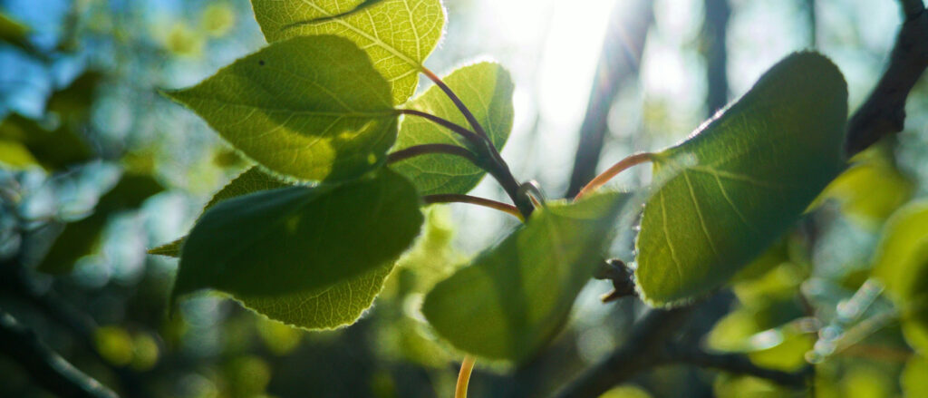
[[509, 165], [506, 164], [506, 160], [503, 160], [503, 157], [499, 154], [499, 150], [496, 149], [496, 146], [493, 144], [493, 141], [490, 140], [489, 135], [486, 135], [486, 131], [483, 130], [483, 126], [480, 125], [480, 122], [477, 122], [477, 118], [473, 116], [473, 113], [470, 112], [470, 109], [464, 105], [464, 102], [455, 94], [454, 90], [451, 87], [448, 87], [445, 82], [442, 81], [438, 75], [433, 71], [430, 71], [426, 67], [422, 67], [422, 74], [425, 74], [430, 80], [432, 80], [435, 85], [442, 89], [445, 92], [445, 95], [451, 99], [451, 102], [458, 107], [458, 110], [461, 111], [461, 114], [464, 115], [464, 119], [470, 123], [470, 127], [473, 128], [475, 134], [482, 138], [483, 145], [479, 145], [478, 148], [483, 153], [483, 157], [490, 160], [490, 163], [487, 164], [487, 167], [484, 170], [487, 173], [493, 175], [496, 178], [496, 181], [499, 182], [499, 185], [503, 186], [503, 189], [506, 190], [506, 194], [509, 195], [509, 198], [512, 199], [512, 202], [515, 203], [516, 207], [519, 209], [519, 212], [522, 212], [522, 218], [528, 218], [529, 215], [535, 210], [535, 207], [532, 205], [531, 200], [524, 198], [519, 195], [519, 183], [516, 181], [515, 177], [512, 175], [512, 172], [509, 171]]

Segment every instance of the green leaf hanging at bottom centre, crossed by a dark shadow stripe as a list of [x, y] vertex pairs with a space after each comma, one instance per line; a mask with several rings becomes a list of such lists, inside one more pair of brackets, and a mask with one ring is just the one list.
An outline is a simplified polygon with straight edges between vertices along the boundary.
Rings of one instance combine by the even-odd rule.
[[522, 229], [439, 282], [422, 313], [458, 349], [522, 362], [553, 339], [599, 263], [629, 195], [549, 202]]

